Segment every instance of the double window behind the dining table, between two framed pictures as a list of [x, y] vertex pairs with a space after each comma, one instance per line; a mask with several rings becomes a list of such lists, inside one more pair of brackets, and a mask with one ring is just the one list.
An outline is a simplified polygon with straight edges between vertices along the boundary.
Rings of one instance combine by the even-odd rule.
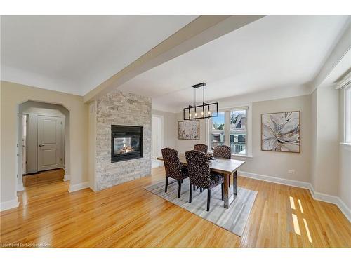
[[247, 131], [248, 107], [218, 112], [209, 122], [209, 144], [211, 151], [218, 145], [228, 145], [232, 154], [248, 155]]

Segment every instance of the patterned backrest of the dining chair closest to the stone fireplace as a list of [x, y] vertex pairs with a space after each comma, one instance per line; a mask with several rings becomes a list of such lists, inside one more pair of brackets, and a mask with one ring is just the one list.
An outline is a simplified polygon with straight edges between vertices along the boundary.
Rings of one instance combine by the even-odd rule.
[[182, 180], [182, 166], [180, 165], [178, 151], [171, 148], [161, 149], [164, 158], [166, 176], [176, 180]]

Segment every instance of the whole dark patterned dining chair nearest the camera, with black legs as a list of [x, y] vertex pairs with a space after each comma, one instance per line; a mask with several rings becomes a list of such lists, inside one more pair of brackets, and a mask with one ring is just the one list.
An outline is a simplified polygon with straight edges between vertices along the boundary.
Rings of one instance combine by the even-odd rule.
[[207, 189], [207, 211], [210, 210], [211, 189], [221, 184], [222, 200], [224, 190], [224, 177], [217, 173], [211, 173], [210, 161], [207, 154], [201, 151], [187, 151], [185, 153], [187, 159], [187, 169], [190, 180], [189, 203], [192, 203], [192, 186], [196, 185], [200, 189]]

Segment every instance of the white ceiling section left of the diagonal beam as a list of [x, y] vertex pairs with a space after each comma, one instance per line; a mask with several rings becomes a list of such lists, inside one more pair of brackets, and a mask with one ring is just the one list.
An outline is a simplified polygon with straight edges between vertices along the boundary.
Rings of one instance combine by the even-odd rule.
[[1, 16], [1, 79], [84, 95], [197, 16]]

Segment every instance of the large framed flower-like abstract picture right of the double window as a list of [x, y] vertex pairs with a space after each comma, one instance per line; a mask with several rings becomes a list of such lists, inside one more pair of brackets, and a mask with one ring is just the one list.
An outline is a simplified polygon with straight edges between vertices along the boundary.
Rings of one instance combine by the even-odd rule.
[[300, 111], [261, 114], [261, 150], [300, 152]]

